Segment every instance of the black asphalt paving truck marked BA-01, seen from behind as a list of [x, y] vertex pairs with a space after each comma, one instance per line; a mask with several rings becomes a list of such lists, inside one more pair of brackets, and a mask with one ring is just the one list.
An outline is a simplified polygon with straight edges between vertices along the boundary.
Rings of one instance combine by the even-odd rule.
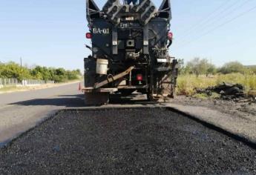
[[112, 93], [174, 97], [177, 59], [169, 55], [171, 2], [86, 0], [91, 56], [85, 58], [85, 105], [104, 105]]

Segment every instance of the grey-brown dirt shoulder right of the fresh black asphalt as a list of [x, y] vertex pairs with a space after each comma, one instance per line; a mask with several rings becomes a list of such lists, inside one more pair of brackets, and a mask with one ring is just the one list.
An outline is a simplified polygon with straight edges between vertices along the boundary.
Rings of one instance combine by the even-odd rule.
[[256, 144], [256, 103], [177, 96], [171, 108]]

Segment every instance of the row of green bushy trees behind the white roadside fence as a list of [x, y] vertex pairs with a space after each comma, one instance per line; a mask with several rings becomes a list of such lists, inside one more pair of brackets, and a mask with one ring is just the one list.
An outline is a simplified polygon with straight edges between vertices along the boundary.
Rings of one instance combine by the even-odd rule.
[[15, 62], [0, 62], [1, 79], [37, 79], [44, 81], [68, 82], [70, 80], [80, 79], [82, 76], [79, 69], [65, 70], [54, 67], [20, 67]]

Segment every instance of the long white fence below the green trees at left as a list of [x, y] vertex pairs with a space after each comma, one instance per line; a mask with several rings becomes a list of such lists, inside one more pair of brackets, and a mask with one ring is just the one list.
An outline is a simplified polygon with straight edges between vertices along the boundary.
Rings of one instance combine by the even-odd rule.
[[24, 79], [22, 82], [19, 82], [18, 79], [0, 79], [0, 88], [4, 86], [33, 86], [54, 83], [54, 81], [43, 81], [36, 79]]

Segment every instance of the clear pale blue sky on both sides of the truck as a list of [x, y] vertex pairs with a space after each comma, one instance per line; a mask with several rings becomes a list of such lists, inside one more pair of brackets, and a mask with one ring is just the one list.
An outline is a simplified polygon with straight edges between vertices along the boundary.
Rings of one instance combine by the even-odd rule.
[[[159, 6], [161, 1], [154, 2]], [[104, 3], [96, 0], [99, 7]], [[234, 60], [256, 65], [255, 0], [171, 3], [172, 56], [186, 61], [199, 56], [216, 65]], [[89, 44], [86, 26], [85, 0], [1, 0], [0, 61], [19, 62], [22, 57], [27, 65], [82, 69], [83, 58], [90, 54], [84, 45]]]

